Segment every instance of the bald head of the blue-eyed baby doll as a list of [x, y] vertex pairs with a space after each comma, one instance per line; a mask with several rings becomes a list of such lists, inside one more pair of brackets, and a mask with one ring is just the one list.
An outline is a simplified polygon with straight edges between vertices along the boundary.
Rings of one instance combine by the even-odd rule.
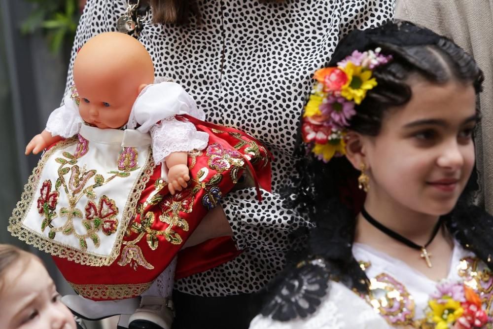
[[107, 32], [80, 48], [73, 79], [82, 119], [99, 128], [120, 128], [143, 87], [153, 82], [154, 67], [138, 40]]

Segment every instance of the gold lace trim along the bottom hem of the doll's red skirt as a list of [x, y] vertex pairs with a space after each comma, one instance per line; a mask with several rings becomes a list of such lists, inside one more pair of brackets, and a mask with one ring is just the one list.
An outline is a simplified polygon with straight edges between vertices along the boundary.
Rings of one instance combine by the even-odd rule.
[[145, 292], [152, 282], [137, 285], [76, 285], [71, 282], [69, 284], [75, 292], [89, 299], [126, 299]]

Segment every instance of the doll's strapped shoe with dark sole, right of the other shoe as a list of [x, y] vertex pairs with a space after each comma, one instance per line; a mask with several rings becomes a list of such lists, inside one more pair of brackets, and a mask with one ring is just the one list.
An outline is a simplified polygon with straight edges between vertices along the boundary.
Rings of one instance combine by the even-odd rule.
[[171, 329], [173, 301], [161, 297], [141, 297], [141, 306], [130, 316], [129, 329]]

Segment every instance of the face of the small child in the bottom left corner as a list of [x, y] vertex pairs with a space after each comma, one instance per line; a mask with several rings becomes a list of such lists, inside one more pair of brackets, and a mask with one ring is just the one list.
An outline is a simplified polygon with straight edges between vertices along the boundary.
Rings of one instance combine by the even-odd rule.
[[0, 296], [4, 329], [75, 329], [44, 266], [36, 259], [17, 261], [7, 269]]

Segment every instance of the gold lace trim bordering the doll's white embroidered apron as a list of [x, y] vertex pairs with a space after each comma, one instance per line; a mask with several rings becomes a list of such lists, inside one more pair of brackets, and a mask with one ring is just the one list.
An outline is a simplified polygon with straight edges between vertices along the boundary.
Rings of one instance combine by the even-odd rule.
[[59, 241], [51, 240], [22, 224], [28, 210], [31, 208], [31, 204], [35, 202], [35, 195], [39, 185], [39, 177], [41, 176], [44, 166], [46, 165], [46, 161], [55, 151], [71, 146], [77, 142], [77, 137], [67, 139], [50, 148], [41, 157], [37, 166], [33, 169], [33, 174], [29, 177], [28, 183], [24, 186], [24, 192], [21, 195], [21, 200], [12, 211], [12, 217], [9, 219], [10, 225], [7, 229], [13, 236], [17, 236], [20, 240], [25, 241], [27, 244], [30, 244], [50, 255], [67, 258], [68, 260], [82, 265], [107, 266], [120, 255], [123, 237], [129, 225], [130, 219], [134, 217], [141, 192], [144, 190], [145, 185], [154, 171], [154, 160], [152, 158], [152, 150], [150, 146], [145, 165], [143, 166], [139, 177], [136, 179], [134, 186], [132, 187], [132, 192], [127, 198], [127, 202], [121, 217], [121, 226], [119, 227], [119, 231], [116, 233], [117, 236], [113, 245], [113, 250], [108, 256], [101, 256], [88, 251], [75, 249], [74, 247], [63, 244]]

